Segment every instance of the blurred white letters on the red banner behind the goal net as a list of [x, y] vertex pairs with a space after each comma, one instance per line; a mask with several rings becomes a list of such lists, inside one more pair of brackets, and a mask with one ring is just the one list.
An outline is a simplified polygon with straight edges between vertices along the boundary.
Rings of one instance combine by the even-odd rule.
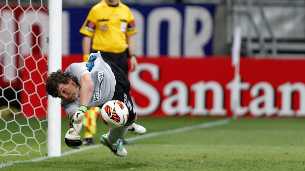
[[[19, 25], [17, 25], [16, 21], [10, 20], [12, 19], [12, 11], [9, 9], [3, 9], [1, 11], [1, 17], [4, 20], [0, 21], [0, 37], [1, 43], [0, 45], [0, 51], [4, 51], [5, 53], [3, 55], [3, 60], [0, 61], [1, 64], [4, 64], [5, 67], [3, 67], [2, 73], [5, 73], [7, 77], [2, 77], [2, 81], [5, 83], [9, 83], [10, 79], [17, 76], [17, 59], [13, 58], [15, 54], [17, 54], [17, 45], [19, 45], [19, 53], [21, 56], [26, 58], [28, 55], [31, 54], [31, 47], [34, 45], [34, 42], [36, 40], [33, 40], [32, 38], [32, 27], [37, 26], [39, 27], [40, 32], [48, 32], [48, 15], [44, 11], [31, 11], [28, 10], [18, 17], [17, 22]], [[45, 23], [42, 25], [42, 23]], [[19, 28], [20, 31], [17, 33], [19, 39], [17, 40], [16, 36], [16, 28]], [[36, 33], [37, 34], [37, 33]], [[47, 34], [39, 34], [36, 35], [40, 41], [39, 46], [40, 47], [46, 47], [47, 44]], [[37, 42], [38, 43], [38, 42]], [[47, 48], [43, 49], [43, 53], [47, 53]], [[1, 55], [1, 56], [2, 56]], [[18, 64], [19, 67], [24, 65], [23, 61], [20, 61]], [[17, 79], [11, 80], [11, 83], [16, 83]]]

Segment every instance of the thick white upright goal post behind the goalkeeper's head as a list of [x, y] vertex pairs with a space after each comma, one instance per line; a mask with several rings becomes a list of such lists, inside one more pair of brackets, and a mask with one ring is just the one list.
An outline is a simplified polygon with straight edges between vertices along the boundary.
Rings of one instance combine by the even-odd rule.
[[[49, 56], [48, 72], [61, 69], [62, 56], [62, 0], [49, 0]], [[60, 99], [48, 95], [48, 156], [61, 153], [61, 108]]]

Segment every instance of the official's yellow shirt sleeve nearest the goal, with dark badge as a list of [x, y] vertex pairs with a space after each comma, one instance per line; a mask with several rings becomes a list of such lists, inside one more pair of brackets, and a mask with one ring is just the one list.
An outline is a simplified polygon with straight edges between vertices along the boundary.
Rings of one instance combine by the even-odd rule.
[[79, 33], [92, 37], [94, 34], [94, 30], [97, 24], [97, 18], [96, 18], [96, 12], [94, 10], [94, 8], [92, 8], [85, 20], [85, 22], [83, 23], [83, 25], [81, 26]]

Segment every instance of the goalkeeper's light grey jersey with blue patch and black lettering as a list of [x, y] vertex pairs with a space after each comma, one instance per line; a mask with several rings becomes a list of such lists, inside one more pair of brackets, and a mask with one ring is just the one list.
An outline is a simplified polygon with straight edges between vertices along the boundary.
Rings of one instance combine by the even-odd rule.
[[[113, 98], [115, 90], [115, 77], [108, 64], [106, 64], [101, 56], [100, 51], [98, 53], [91, 53], [89, 56], [89, 63], [73, 63], [65, 70], [70, 77], [79, 84], [80, 76], [87, 73], [91, 74], [91, 78], [94, 84], [94, 91], [92, 98], [87, 108], [98, 107], [104, 103], [110, 101]], [[79, 87], [81, 89], [81, 87]], [[61, 107], [65, 109], [67, 116], [73, 110], [77, 110], [79, 107], [79, 95], [75, 102], [66, 100], [61, 101]]]

